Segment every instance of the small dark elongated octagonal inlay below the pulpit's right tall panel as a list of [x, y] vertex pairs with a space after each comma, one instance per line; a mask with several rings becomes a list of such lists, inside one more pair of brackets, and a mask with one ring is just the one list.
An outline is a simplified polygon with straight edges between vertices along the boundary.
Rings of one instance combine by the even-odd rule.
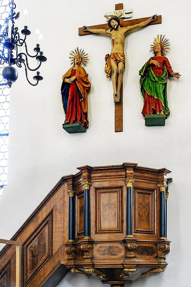
[[138, 243], [134, 254], [137, 258], [155, 258], [157, 256], [157, 245]]

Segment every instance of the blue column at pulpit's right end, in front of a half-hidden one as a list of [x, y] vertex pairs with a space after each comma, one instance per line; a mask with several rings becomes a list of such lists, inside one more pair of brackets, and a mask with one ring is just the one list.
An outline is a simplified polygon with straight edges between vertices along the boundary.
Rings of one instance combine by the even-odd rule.
[[167, 221], [166, 221], [166, 199], [165, 199], [165, 191], [167, 185], [165, 183], [158, 185], [160, 189], [160, 238], [167, 238]]

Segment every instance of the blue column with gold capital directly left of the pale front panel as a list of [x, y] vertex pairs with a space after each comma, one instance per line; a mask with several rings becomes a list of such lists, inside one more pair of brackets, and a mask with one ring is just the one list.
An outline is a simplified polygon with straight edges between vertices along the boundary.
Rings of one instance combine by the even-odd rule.
[[84, 189], [84, 239], [90, 239], [90, 185], [88, 181], [82, 181]]

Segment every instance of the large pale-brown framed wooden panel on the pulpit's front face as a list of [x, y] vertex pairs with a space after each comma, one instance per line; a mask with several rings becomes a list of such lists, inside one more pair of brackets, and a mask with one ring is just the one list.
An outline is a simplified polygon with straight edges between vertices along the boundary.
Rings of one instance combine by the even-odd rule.
[[122, 188], [96, 189], [96, 232], [122, 232]]

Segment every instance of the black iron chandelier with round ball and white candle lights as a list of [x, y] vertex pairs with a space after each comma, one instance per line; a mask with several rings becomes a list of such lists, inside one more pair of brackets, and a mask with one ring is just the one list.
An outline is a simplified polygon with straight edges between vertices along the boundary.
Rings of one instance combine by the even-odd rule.
[[[43, 56], [43, 36], [40, 34], [39, 29], [36, 30], [36, 47], [34, 51], [35, 55], [30, 55], [28, 53], [26, 38], [30, 35], [30, 30], [28, 30], [28, 13], [27, 10], [24, 12], [24, 29], [21, 33], [24, 35], [24, 39], [20, 38], [20, 34], [18, 32], [18, 27], [15, 27], [15, 20], [17, 20], [20, 16], [20, 12], [15, 13], [16, 5], [14, 0], [10, 0], [9, 7], [11, 9], [11, 13], [8, 18], [5, 19], [5, 24], [7, 25], [3, 30], [3, 33], [0, 34], [0, 43], [3, 48], [0, 50], [0, 65], [4, 65], [4, 63], [8, 64], [8, 66], [3, 68], [3, 78], [6, 83], [0, 85], [8, 85], [11, 88], [13, 82], [15, 82], [18, 78], [18, 71], [13, 65], [16, 65], [18, 68], [24, 67], [26, 73], [26, 79], [32, 86], [36, 86], [39, 81], [43, 79], [40, 76], [40, 66], [42, 62], [47, 61], [47, 58]], [[0, 29], [2, 26], [0, 25]], [[22, 47], [25, 47], [26, 53], [22, 52]], [[28, 57], [36, 58], [37, 67], [35, 69], [31, 69], [28, 64]], [[27, 71], [37, 71], [36, 75], [33, 79], [36, 81], [34, 84], [31, 83], [28, 79]]]

